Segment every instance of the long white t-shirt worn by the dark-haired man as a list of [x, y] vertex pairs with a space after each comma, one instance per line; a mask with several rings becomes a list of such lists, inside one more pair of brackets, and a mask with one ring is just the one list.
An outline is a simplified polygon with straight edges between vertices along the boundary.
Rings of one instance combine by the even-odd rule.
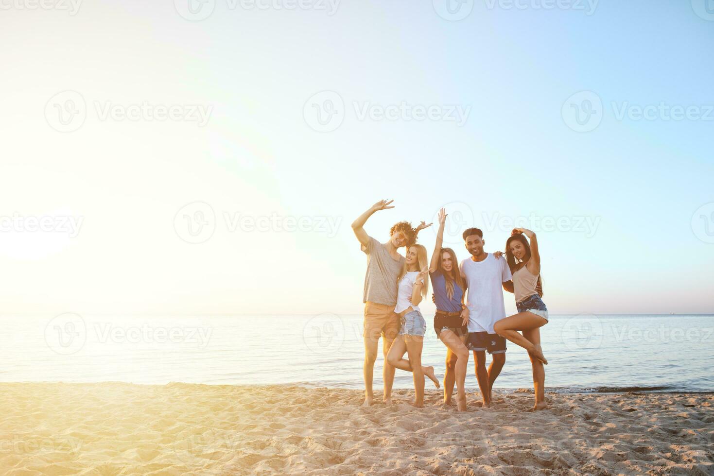
[[506, 317], [503, 283], [511, 280], [508, 263], [488, 253], [483, 261], [461, 261], [459, 269], [466, 275], [468, 285], [468, 332], [493, 334], [496, 321]]

